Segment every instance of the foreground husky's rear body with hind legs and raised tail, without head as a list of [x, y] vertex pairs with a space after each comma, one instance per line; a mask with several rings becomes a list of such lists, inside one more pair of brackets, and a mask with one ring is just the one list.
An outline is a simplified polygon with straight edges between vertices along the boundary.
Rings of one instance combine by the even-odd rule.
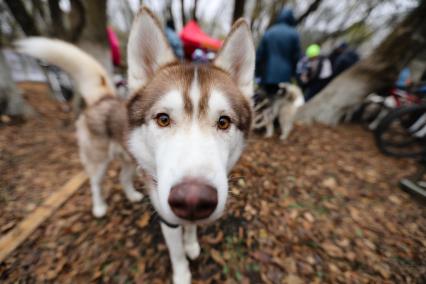
[[92, 213], [103, 217], [107, 205], [102, 197], [101, 183], [109, 162], [122, 162], [120, 181], [130, 201], [143, 195], [133, 187], [135, 164], [125, 149], [127, 110], [104, 68], [90, 55], [72, 44], [41, 37], [15, 43], [22, 53], [45, 60], [71, 75], [87, 108], [76, 123], [80, 160], [89, 175], [92, 191]]

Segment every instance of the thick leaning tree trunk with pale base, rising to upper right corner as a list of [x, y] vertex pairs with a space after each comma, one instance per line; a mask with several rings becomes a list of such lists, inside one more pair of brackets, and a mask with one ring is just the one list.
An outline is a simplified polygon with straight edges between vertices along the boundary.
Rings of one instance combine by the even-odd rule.
[[392, 86], [399, 71], [426, 48], [426, 1], [421, 1], [367, 58], [343, 72], [302, 107], [303, 122], [336, 125], [371, 92]]

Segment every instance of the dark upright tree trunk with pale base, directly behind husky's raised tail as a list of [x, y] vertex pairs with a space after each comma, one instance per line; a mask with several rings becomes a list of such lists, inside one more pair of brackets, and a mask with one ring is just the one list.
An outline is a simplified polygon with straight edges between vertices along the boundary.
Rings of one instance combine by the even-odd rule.
[[86, 25], [78, 45], [94, 56], [112, 75], [113, 66], [106, 33], [106, 0], [83, 1]]

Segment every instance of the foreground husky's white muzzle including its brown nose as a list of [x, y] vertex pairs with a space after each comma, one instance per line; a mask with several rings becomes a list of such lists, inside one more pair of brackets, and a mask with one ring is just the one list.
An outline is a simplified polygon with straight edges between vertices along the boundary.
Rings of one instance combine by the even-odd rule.
[[151, 197], [171, 223], [213, 221], [222, 215], [228, 194], [228, 153], [209, 132], [194, 123], [158, 145], [158, 185]]

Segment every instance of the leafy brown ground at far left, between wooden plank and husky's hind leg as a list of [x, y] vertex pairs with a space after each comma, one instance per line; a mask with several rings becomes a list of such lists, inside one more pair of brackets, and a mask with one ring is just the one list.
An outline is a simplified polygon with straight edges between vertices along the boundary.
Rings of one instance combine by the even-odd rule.
[[80, 169], [74, 122], [45, 84], [22, 84], [40, 113], [26, 123], [0, 124], [0, 235]]

